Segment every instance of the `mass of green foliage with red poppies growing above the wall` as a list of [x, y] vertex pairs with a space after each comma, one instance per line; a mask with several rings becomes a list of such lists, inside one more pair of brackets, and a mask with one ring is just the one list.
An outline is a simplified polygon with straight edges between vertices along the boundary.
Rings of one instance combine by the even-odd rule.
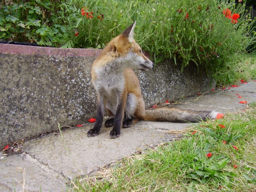
[[[236, 24], [227, 8], [240, 14]], [[136, 20], [135, 39], [155, 63], [181, 60], [182, 69], [195, 64], [225, 83], [235, 80], [244, 53], [256, 51], [256, 19], [234, 0], [5, 1], [0, 18], [0, 39], [99, 49]]]

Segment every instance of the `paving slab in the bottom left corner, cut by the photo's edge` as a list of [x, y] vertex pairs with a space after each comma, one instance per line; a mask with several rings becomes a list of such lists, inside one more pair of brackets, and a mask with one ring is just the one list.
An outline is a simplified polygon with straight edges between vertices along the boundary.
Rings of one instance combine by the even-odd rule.
[[[12, 155], [0, 160], [0, 191], [66, 191], [66, 180], [29, 155]], [[23, 175], [25, 173], [25, 175]]]

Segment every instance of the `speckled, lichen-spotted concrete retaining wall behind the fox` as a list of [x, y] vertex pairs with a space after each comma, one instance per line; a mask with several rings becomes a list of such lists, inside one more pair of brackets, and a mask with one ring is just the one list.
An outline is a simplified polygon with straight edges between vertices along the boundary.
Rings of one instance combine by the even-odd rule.
[[[55, 130], [58, 123], [83, 124], [95, 117], [90, 71], [100, 52], [0, 44], [0, 148]], [[136, 74], [147, 107], [212, 88], [210, 79], [198, 75], [193, 65], [181, 74], [172, 61]]]

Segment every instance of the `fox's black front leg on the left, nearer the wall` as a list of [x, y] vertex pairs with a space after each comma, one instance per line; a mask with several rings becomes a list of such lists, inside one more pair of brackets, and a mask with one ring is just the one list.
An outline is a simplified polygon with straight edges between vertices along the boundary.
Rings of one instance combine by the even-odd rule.
[[93, 137], [99, 134], [102, 123], [103, 123], [103, 114], [104, 114], [104, 101], [102, 94], [97, 95], [97, 119], [92, 129], [87, 132], [88, 137]]

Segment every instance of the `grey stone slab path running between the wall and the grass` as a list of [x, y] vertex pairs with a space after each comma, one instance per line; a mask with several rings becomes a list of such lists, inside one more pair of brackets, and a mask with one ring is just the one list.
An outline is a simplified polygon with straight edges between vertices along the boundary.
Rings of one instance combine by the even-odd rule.
[[[242, 99], [237, 98], [240, 93]], [[256, 82], [225, 91], [213, 91], [182, 100], [176, 107], [216, 110], [228, 113], [246, 107], [240, 100], [256, 101]], [[198, 99], [197, 99], [198, 98]], [[197, 100], [196, 100], [197, 99]], [[196, 102], [191, 102], [196, 100]], [[47, 135], [23, 144], [23, 153], [0, 160], [0, 191], [66, 191], [66, 183], [77, 176], [95, 171], [148, 146], [172, 140], [170, 130], [182, 130], [188, 123], [140, 121], [122, 129], [121, 137], [109, 139], [111, 128], [103, 127], [97, 137], [86, 133], [92, 124], [85, 124], [57, 135]], [[56, 125], [57, 128], [57, 125]], [[0, 154], [1, 155], [1, 154]], [[24, 180], [25, 178], [25, 180]]]

